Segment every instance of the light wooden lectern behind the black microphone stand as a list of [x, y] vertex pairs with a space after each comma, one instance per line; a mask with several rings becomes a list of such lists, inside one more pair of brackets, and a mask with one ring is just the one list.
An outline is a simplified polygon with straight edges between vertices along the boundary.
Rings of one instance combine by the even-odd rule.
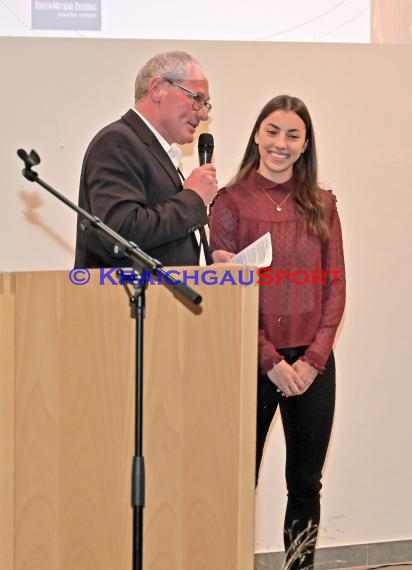
[[[198, 310], [147, 291], [144, 570], [253, 568], [258, 286], [210, 270]], [[0, 274], [2, 570], [131, 569], [135, 322], [101, 281]]]

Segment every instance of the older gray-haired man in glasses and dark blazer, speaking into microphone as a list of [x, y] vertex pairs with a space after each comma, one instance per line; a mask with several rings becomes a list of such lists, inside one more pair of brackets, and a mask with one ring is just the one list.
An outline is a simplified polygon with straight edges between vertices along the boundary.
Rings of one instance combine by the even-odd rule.
[[[180, 51], [151, 58], [136, 78], [135, 105], [91, 141], [83, 161], [79, 205], [164, 265], [197, 265], [197, 230], [217, 192], [215, 168], [182, 179], [173, 143], [191, 143], [208, 118], [209, 85], [199, 63]], [[75, 265], [127, 267], [130, 260], [79, 217]]]

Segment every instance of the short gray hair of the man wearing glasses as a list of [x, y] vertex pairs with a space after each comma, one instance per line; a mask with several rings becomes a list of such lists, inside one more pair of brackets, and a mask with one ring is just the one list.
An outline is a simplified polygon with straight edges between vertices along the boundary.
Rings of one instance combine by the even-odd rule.
[[167, 51], [153, 56], [137, 74], [135, 101], [139, 101], [147, 95], [152, 77], [158, 75], [171, 81], [180, 82], [186, 78], [191, 65], [200, 67], [199, 62], [185, 51]]

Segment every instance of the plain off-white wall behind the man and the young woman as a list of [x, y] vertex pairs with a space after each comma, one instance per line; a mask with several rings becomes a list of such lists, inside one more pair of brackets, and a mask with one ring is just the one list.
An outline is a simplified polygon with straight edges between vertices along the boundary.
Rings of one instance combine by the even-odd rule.
[[[0, 39], [0, 270], [73, 262], [74, 213], [21, 176], [16, 150], [36, 149], [39, 175], [76, 201], [89, 139], [132, 103], [140, 65], [170, 48], [193, 53], [210, 77], [221, 185], [270, 97], [298, 95], [312, 112], [348, 270], [319, 545], [410, 539], [412, 46]], [[186, 172], [196, 145], [187, 152]], [[282, 548], [280, 432], [278, 421], [257, 493], [257, 551]]]

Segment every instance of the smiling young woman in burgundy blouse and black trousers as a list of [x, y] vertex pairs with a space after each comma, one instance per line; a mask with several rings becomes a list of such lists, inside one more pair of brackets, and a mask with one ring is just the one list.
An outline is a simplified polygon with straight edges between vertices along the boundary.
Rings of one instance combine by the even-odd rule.
[[284, 543], [287, 567], [297, 570], [314, 562], [345, 273], [336, 200], [317, 181], [312, 121], [304, 103], [288, 95], [262, 109], [238, 173], [212, 205], [214, 260], [230, 261], [266, 232], [273, 261], [260, 278], [256, 473], [279, 405], [287, 452]]

